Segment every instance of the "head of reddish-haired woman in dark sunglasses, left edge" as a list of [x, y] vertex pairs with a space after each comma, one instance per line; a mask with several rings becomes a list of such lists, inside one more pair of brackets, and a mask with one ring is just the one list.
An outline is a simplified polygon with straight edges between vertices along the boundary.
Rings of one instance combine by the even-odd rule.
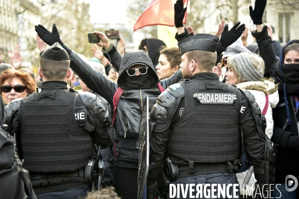
[[5, 105], [17, 98], [24, 98], [36, 91], [36, 83], [25, 72], [6, 70], [0, 76], [1, 97]]

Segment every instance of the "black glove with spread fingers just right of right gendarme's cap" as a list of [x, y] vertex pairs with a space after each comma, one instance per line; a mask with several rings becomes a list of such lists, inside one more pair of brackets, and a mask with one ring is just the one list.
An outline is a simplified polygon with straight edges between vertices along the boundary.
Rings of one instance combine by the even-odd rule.
[[245, 30], [245, 24], [243, 23], [240, 25], [240, 23], [240, 21], [237, 22], [229, 31], [228, 24], [225, 25], [219, 40], [223, 48], [226, 49], [228, 46], [232, 45], [242, 35], [243, 31]]

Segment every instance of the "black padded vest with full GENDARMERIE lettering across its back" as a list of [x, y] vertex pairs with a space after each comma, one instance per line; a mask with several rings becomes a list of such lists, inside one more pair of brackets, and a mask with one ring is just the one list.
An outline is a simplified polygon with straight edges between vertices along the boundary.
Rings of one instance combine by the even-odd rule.
[[184, 161], [221, 163], [240, 156], [238, 89], [221, 82], [180, 82], [184, 110], [171, 126], [167, 154]]

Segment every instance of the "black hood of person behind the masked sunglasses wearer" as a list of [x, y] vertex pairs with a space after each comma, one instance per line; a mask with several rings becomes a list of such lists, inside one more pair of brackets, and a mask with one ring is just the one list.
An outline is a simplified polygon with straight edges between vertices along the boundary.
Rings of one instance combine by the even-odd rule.
[[149, 58], [153, 66], [156, 67], [156, 65], [158, 65], [158, 60], [160, 56], [160, 47], [166, 46], [166, 44], [162, 40], [156, 38], [147, 38], [146, 41], [149, 52]]

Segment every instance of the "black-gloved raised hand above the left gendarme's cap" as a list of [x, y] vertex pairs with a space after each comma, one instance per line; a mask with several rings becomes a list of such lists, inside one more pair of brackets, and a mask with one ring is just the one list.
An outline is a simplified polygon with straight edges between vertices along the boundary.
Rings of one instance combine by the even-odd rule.
[[53, 45], [55, 42], [58, 42], [60, 45], [62, 45], [55, 23], [53, 24], [52, 32], [40, 24], [35, 26], [35, 31], [37, 32], [38, 36], [49, 46]]

